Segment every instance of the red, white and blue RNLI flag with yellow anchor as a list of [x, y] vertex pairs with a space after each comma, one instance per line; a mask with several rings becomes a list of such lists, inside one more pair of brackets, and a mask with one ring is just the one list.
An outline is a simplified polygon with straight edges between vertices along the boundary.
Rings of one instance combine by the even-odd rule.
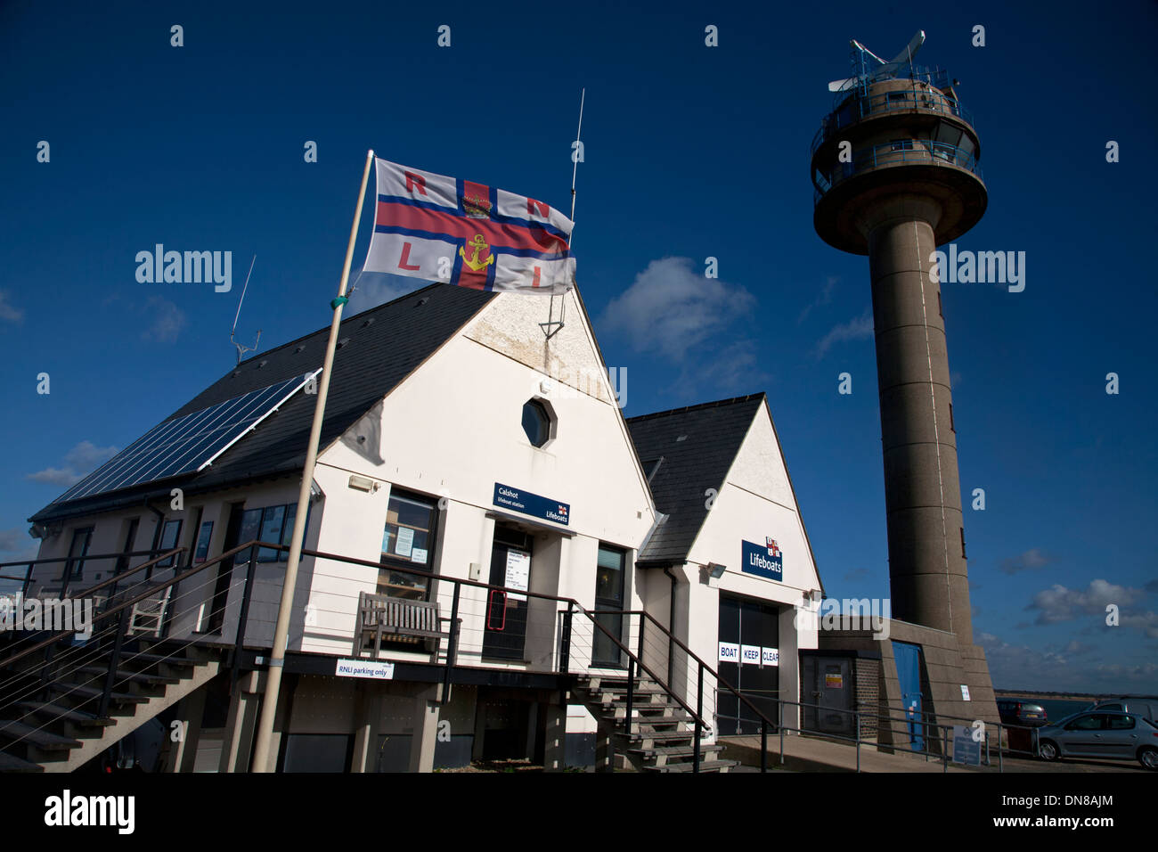
[[543, 202], [376, 160], [374, 234], [362, 268], [475, 290], [563, 293], [572, 223]]

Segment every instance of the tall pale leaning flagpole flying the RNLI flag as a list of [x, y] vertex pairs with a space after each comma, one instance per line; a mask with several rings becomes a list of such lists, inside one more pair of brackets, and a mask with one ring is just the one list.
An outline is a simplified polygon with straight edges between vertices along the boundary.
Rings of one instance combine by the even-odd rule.
[[[281, 669], [285, 665], [286, 645], [290, 635], [290, 616], [293, 613], [293, 594], [298, 585], [298, 563], [301, 561], [301, 544], [306, 536], [306, 512], [309, 507], [309, 491], [314, 482], [314, 466], [317, 461], [317, 444], [322, 437], [322, 418], [325, 414], [325, 396], [330, 389], [330, 372], [334, 367], [334, 352], [338, 343], [338, 325], [342, 322], [342, 307], [346, 304], [346, 283], [350, 281], [350, 262], [354, 255], [354, 242], [358, 239], [358, 225], [361, 223], [362, 201], [366, 197], [366, 181], [369, 179], [369, 167], [374, 162], [374, 151], [366, 152], [366, 168], [362, 170], [361, 190], [358, 192], [358, 207], [354, 210], [354, 223], [350, 228], [350, 243], [346, 246], [346, 262], [342, 267], [342, 283], [338, 285], [338, 297], [330, 303], [334, 319], [330, 321], [330, 341], [325, 348], [325, 361], [317, 385], [317, 402], [314, 406], [314, 423], [309, 429], [309, 444], [306, 446], [306, 465], [301, 474], [301, 488], [298, 490], [298, 514], [293, 519], [293, 539], [290, 542], [290, 560], [286, 563], [285, 584], [281, 587], [281, 604], [278, 607], [278, 624], [273, 631], [273, 654], [269, 661], [269, 673], [265, 680], [265, 697], [262, 700], [262, 718], [257, 723], [257, 742], [254, 745], [254, 771], [267, 772], [270, 741], [273, 736], [273, 716], [278, 706], [278, 693], [281, 690]], [[249, 570], [257, 566], [250, 565]], [[239, 625], [237, 629], [241, 629]]]

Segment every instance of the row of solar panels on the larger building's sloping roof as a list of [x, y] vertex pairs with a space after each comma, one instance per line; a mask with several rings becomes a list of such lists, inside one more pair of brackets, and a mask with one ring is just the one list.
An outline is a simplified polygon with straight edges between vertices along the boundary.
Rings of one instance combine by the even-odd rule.
[[53, 503], [201, 471], [273, 414], [321, 370], [167, 420], [105, 461]]

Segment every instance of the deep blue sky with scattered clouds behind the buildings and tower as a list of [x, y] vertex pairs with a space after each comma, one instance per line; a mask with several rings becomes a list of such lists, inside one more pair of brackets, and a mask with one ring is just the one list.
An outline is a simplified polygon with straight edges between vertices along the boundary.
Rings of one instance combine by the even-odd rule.
[[[891, 56], [924, 29], [918, 61], [961, 80], [982, 138], [989, 210], [958, 246], [1026, 253], [1024, 292], [944, 287], [962, 490], [987, 495], [965, 518], [976, 634], [997, 686], [1158, 691], [1158, 13], [1009, 6], [5, 3], [0, 560], [232, 366], [252, 255], [242, 340], [328, 323], [367, 148], [566, 211], [586, 86], [574, 252], [625, 413], [765, 391], [829, 594], [887, 596], [867, 261], [813, 232], [808, 145], [849, 39]], [[232, 252], [234, 290], [139, 284], [157, 242]]]

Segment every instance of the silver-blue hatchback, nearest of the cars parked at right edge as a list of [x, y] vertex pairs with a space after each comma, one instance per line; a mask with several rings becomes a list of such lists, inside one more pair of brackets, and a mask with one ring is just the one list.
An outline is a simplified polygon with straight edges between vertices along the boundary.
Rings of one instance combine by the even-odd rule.
[[1100, 757], [1137, 760], [1158, 770], [1158, 724], [1136, 713], [1097, 709], [1075, 713], [1038, 729], [1038, 753], [1045, 760]]

